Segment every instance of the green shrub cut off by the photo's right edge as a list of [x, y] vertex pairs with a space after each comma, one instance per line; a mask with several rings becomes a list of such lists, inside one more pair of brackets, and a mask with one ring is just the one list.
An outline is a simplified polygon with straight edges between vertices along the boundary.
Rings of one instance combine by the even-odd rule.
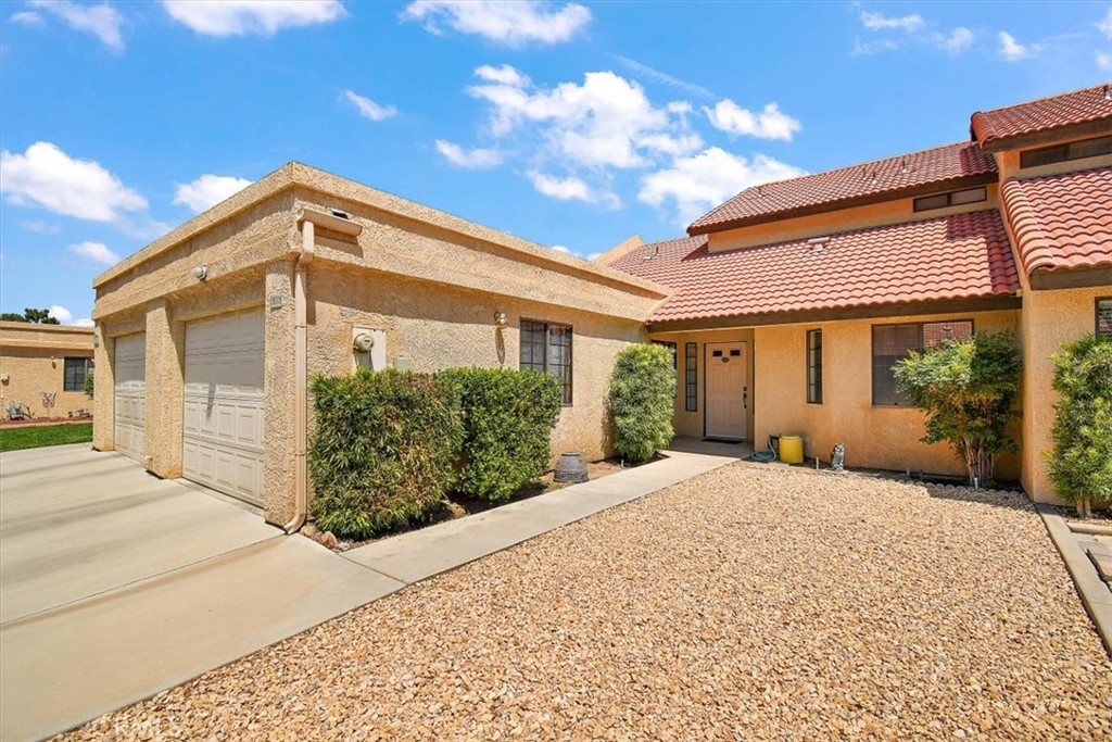
[[1112, 506], [1112, 342], [1089, 335], [1052, 360], [1061, 396], [1048, 456], [1051, 482], [1083, 513], [1091, 504]]

